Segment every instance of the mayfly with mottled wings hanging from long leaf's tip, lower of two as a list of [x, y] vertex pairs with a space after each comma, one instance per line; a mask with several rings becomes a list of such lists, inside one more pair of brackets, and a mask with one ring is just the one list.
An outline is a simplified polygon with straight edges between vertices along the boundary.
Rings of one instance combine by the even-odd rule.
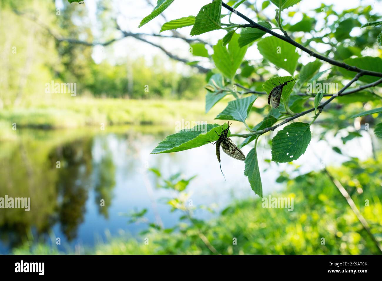
[[[230, 121], [228, 121], [228, 128], [227, 129], [223, 129], [223, 125], [222, 125], [222, 133], [217, 133], [215, 131], [215, 133], [217, 133], [217, 135], [219, 136], [219, 139], [217, 141], [215, 141], [216, 143], [216, 157], [217, 157], [217, 161], [219, 161], [219, 165], [220, 165], [220, 171], [222, 172], [223, 174], [223, 171], [222, 171], [222, 164], [220, 163], [220, 146], [222, 146], [222, 149], [223, 151], [228, 154], [229, 156], [231, 156], [232, 158], [235, 158], [235, 159], [238, 159], [238, 160], [241, 160], [241, 161], [244, 161], [245, 160], [245, 156], [244, 156], [244, 153], [241, 152], [240, 149], [238, 149], [238, 147], [235, 145], [235, 143], [233, 143], [233, 141], [228, 138], [228, 130], [230, 130], [230, 124], [229, 124]], [[232, 123], [231, 123], [232, 125]], [[212, 143], [210, 141], [207, 141], [209, 143]], [[215, 145], [215, 143], [212, 143], [213, 145]], [[225, 179], [225, 175], [223, 174], [223, 177]]]

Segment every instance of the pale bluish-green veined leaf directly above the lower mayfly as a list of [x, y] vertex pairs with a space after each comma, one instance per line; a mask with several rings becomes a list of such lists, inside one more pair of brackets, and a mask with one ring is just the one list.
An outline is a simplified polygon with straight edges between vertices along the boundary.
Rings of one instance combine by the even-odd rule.
[[228, 102], [228, 106], [215, 119], [236, 120], [244, 123], [256, 98], [257, 96], [251, 95]]

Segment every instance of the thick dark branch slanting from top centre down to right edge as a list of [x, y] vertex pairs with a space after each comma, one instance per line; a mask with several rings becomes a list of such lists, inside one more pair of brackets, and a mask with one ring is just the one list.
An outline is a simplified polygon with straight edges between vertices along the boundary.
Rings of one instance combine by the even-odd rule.
[[309, 55], [311, 55], [312, 57], [316, 57], [320, 60], [323, 60], [324, 62], [328, 62], [330, 63], [331, 65], [335, 65], [335, 66], [338, 66], [338, 67], [341, 67], [341, 68], [345, 68], [347, 70], [350, 70], [350, 71], [354, 71], [354, 72], [358, 72], [358, 73], [363, 73], [364, 75], [370, 75], [370, 76], [376, 76], [376, 77], [382, 77], [382, 73], [380, 72], [376, 72], [376, 71], [370, 71], [370, 70], [365, 70], [365, 69], [361, 69], [361, 68], [358, 68], [358, 67], [354, 67], [352, 65], [348, 65], [346, 63], [343, 63], [343, 62], [337, 62], [336, 60], [332, 60], [330, 58], [327, 58], [327, 57], [324, 57], [323, 55], [320, 55], [320, 54], [317, 54], [315, 52], [313, 52], [312, 50], [309, 50], [308, 48], [304, 47], [303, 45], [297, 43], [296, 41], [294, 41], [293, 39], [291, 39], [290, 37], [286, 37], [286, 36], [283, 36], [281, 34], [278, 34], [268, 28], [265, 28], [264, 26], [261, 26], [260, 24], [258, 23], [255, 23], [252, 19], [248, 18], [247, 16], [243, 15], [242, 13], [240, 13], [239, 11], [233, 9], [231, 6], [227, 5], [226, 3], [222, 2], [222, 6], [224, 8], [226, 8], [227, 10], [233, 12], [235, 11], [236, 15], [240, 16], [240, 18], [248, 21], [249, 24], [242, 24], [241, 27], [250, 27], [250, 28], [257, 28], [257, 29], [260, 29], [262, 31], [265, 31], [285, 42], [288, 42], [289, 44], [303, 50], [304, 52], [308, 53]]

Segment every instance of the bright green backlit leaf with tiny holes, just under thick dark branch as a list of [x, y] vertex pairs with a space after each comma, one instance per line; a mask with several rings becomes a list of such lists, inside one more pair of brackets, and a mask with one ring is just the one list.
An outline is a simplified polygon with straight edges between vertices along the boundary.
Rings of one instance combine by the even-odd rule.
[[257, 49], [265, 59], [291, 75], [296, 70], [298, 53], [296, 47], [274, 36], [265, 37], [257, 43]]

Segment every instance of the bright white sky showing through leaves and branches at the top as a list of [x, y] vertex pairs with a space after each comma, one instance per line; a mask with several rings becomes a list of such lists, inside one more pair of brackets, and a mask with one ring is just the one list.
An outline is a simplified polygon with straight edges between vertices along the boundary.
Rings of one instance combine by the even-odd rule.
[[[156, 4], [155, 0], [149, 0], [154, 5]], [[185, 5], [184, 0], [175, 0], [172, 5], [170, 5], [167, 10], [165, 10], [164, 15], [167, 19], [167, 21], [172, 19], [181, 18], [183, 16], [189, 16], [189, 15], [197, 15], [198, 11], [203, 5], [206, 5], [207, 3], [210, 3], [210, 0], [193, 0], [192, 2], [187, 2], [188, 4]], [[261, 4], [264, 1], [253, 1], [256, 2], [256, 6], [259, 10], [261, 10]], [[96, 1], [86, 1], [85, 5], [87, 9], [89, 10], [89, 15], [91, 16], [92, 20], [95, 21], [95, 3]], [[144, 16], [149, 15], [151, 13], [153, 7], [149, 6], [147, 3], [147, 0], [118, 0], [113, 1], [113, 9], [115, 9], [115, 13], [119, 14], [118, 16], [118, 23], [120, 23], [120, 26], [126, 31], [131, 32], [141, 32], [141, 33], [157, 33], [160, 30], [160, 27], [163, 23], [166, 22], [165, 19], [163, 19], [162, 16], [158, 16], [157, 18], [153, 19], [149, 23], [147, 23], [142, 28], [138, 28], [138, 25]], [[314, 12], [309, 12], [310, 10], [316, 9], [320, 6], [320, 3], [324, 3], [325, 5], [334, 5], [334, 10], [337, 12], [341, 12], [345, 9], [350, 8], [356, 8], [359, 5], [361, 5], [361, 1], [359, 0], [322, 0], [322, 1], [311, 1], [311, 0], [302, 0], [300, 3], [298, 3], [295, 6], [292, 6], [288, 8], [287, 10], [282, 12], [282, 18], [285, 20], [288, 18], [287, 13], [289, 11], [300, 11], [304, 13], [308, 13], [308, 16], [314, 16]], [[73, 5], [73, 4], [72, 4]], [[376, 0], [363, 0], [362, 5], [371, 5], [373, 6], [374, 13], [377, 13], [378, 11], [382, 10], [382, 3], [381, 1]], [[267, 15], [269, 18], [274, 18], [275, 16], [275, 6], [271, 3], [263, 13]], [[253, 18], [256, 21], [256, 14], [249, 11], [249, 9], [246, 9], [244, 6], [239, 11], [246, 14], [249, 18]], [[227, 10], [222, 8], [222, 13], [226, 13]], [[248, 14], [248, 12], [250, 14]], [[297, 23], [302, 18], [301, 13], [296, 13], [293, 18], [291, 18], [290, 22], [291, 24]], [[317, 19], [317, 24], [323, 24], [323, 18], [324, 14], [317, 14], [315, 16]], [[369, 19], [366, 18], [359, 18], [362, 23], [367, 23]], [[228, 18], [222, 19], [223, 22], [228, 22]], [[241, 18], [239, 18], [236, 15], [233, 15], [231, 18], [232, 22], [235, 23], [245, 23]], [[288, 22], [288, 20], [285, 21], [285, 23]], [[191, 27], [186, 27], [182, 29], [178, 29], [179, 32], [181, 32], [184, 35], [188, 35], [191, 30]], [[275, 30], [278, 32], [277, 30]], [[360, 34], [361, 29], [354, 28], [351, 32], [352, 36], [357, 36]], [[221, 39], [227, 32], [223, 30], [217, 30], [208, 32], [207, 34], [200, 35], [200, 38], [210, 42], [212, 44], [215, 44], [219, 39]], [[97, 30], [95, 29], [95, 34], [97, 34]], [[162, 32], [163, 35], [171, 35], [170, 31]], [[167, 49], [168, 51], [172, 52], [173, 54], [178, 55], [182, 58], [188, 58], [190, 60], [197, 60], [199, 57], [192, 58], [192, 55], [189, 53], [189, 45], [186, 44], [181, 39], [163, 39], [163, 38], [157, 38], [157, 37], [146, 37], [148, 40], [155, 42], [157, 44], [162, 45]], [[313, 42], [311, 45], [311, 48], [314, 48], [317, 52], [324, 52], [327, 49], [327, 46], [325, 44], [315, 43]], [[210, 54], [212, 54], [212, 50], [209, 50]], [[370, 50], [369, 50], [370, 52]], [[126, 57], [129, 58], [137, 58], [144, 56], [148, 62], [152, 60], [152, 58], [155, 55], [159, 55], [165, 60], [167, 60], [167, 56], [163, 54], [163, 52], [149, 44], [146, 44], [144, 42], [140, 42], [137, 39], [134, 38], [126, 38], [121, 41], [118, 41], [114, 44], [112, 44], [109, 47], [106, 47], [106, 50], [103, 49], [103, 47], [95, 47], [93, 58], [96, 62], [101, 62], [102, 59], [107, 58], [110, 60], [110, 62], [115, 63], [118, 62], [118, 60], [123, 60]], [[372, 54], [367, 54], [372, 55]], [[256, 45], [250, 47], [247, 51], [246, 58], [249, 60], [256, 60], [261, 58], [262, 56], [259, 54]], [[313, 60], [313, 58], [309, 58], [307, 55], [302, 55], [300, 58], [300, 62], [303, 62], [304, 64]], [[206, 60], [203, 64], [206, 67], [211, 67], [209, 65], [208, 60]], [[168, 67], [173, 67], [174, 63], [168, 62]], [[179, 71], [184, 70], [185, 66], [183, 63], [177, 63], [176, 67]], [[281, 70], [283, 71], [283, 70]], [[286, 73], [279, 73], [279, 75], [286, 74]]]

